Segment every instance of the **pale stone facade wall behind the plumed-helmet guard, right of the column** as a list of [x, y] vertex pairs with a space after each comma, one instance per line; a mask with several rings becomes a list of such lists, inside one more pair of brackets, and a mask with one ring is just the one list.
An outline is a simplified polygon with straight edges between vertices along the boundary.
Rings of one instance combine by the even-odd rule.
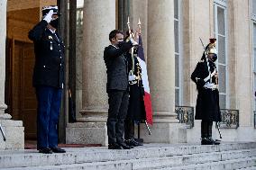
[[[224, 1], [225, 2], [225, 1]], [[215, 36], [214, 4], [219, 1], [182, 1], [183, 4], [183, 40], [185, 74], [184, 100], [185, 105], [195, 106], [197, 100], [196, 86], [189, 76], [202, 55], [199, 37], [207, 41]], [[222, 129], [224, 141], [255, 140], [256, 130], [253, 128], [253, 54], [251, 28], [251, 1], [226, 1], [226, 32], [227, 32], [227, 109], [239, 110], [239, 128]], [[188, 10], [185, 10], [188, 9]], [[189, 96], [189, 97], [185, 97]], [[196, 127], [187, 130], [187, 141], [194, 142], [200, 138], [200, 121]], [[214, 126], [215, 127], [215, 126]], [[218, 138], [217, 130], [214, 130]]]

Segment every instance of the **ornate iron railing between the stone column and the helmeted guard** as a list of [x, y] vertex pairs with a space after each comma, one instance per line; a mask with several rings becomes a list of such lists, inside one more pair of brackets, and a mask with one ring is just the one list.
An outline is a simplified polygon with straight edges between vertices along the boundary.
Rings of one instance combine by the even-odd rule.
[[188, 129], [194, 127], [194, 107], [175, 106], [175, 112], [180, 123], [186, 123]]

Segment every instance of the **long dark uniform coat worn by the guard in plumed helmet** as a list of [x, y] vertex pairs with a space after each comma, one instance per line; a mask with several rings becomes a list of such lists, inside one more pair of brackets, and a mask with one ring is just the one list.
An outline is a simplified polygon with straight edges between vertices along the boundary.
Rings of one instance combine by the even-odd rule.
[[[209, 60], [210, 72], [215, 70], [215, 63]], [[197, 84], [197, 106], [196, 120], [204, 121], [221, 121], [221, 113], [219, 106], [218, 89], [206, 89], [204, 79], [209, 75], [206, 58], [202, 58], [197, 63], [197, 67], [191, 75], [191, 79]], [[209, 80], [208, 80], [209, 81]], [[212, 77], [212, 83], [216, 85], [215, 76]]]

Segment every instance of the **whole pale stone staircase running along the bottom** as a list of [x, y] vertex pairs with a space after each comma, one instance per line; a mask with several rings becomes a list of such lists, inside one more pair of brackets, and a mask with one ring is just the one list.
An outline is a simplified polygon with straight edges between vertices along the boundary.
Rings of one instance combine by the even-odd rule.
[[66, 148], [65, 154], [43, 155], [36, 150], [0, 151], [0, 169], [6, 170], [256, 170], [256, 142], [146, 144], [131, 150]]

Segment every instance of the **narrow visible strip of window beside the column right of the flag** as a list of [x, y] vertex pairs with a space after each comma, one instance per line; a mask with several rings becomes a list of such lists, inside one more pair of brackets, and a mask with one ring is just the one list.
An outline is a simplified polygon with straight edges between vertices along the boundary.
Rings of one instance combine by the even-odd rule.
[[180, 54], [180, 0], [174, 0], [174, 38], [175, 38], [175, 105], [181, 105], [181, 54]]

